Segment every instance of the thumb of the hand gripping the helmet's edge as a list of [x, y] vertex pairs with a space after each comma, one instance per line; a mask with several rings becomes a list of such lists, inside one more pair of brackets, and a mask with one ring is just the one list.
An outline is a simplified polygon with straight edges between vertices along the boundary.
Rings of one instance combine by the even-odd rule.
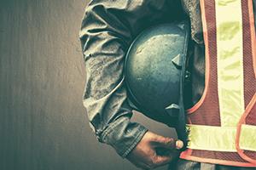
[[173, 138], [166, 138], [163, 136], [158, 136], [155, 138], [155, 144], [159, 147], [163, 147], [169, 150], [180, 150], [183, 148], [183, 141]]

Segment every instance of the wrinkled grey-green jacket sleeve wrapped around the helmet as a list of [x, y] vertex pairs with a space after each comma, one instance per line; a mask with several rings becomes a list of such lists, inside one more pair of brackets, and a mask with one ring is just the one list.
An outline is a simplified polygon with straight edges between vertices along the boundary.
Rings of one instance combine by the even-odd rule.
[[97, 139], [125, 157], [147, 128], [130, 122], [123, 63], [132, 40], [148, 26], [170, 20], [170, 0], [92, 0], [79, 32], [84, 53], [84, 107]]

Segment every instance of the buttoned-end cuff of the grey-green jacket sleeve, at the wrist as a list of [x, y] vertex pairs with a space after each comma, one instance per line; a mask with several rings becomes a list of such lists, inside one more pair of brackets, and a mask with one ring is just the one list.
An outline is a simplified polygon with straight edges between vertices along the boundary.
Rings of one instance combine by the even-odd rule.
[[119, 156], [125, 158], [147, 131], [148, 129], [141, 124], [130, 122], [129, 117], [120, 117], [109, 124], [102, 133], [100, 141], [113, 146]]

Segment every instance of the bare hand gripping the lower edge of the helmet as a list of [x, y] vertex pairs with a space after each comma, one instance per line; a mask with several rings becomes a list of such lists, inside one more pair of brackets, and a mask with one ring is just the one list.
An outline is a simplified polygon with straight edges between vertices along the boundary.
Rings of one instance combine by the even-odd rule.
[[154, 169], [176, 160], [179, 155], [178, 150], [182, 148], [181, 140], [147, 132], [127, 156], [127, 159], [137, 167]]

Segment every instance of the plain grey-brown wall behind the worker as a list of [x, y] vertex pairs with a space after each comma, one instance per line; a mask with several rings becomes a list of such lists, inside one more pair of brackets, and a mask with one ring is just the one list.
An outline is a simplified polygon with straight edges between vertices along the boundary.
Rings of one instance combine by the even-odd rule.
[[[89, 1], [0, 2], [0, 170], [137, 169], [96, 141], [82, 104]], [[172, 133], [138, 113], [133, 121]]]

